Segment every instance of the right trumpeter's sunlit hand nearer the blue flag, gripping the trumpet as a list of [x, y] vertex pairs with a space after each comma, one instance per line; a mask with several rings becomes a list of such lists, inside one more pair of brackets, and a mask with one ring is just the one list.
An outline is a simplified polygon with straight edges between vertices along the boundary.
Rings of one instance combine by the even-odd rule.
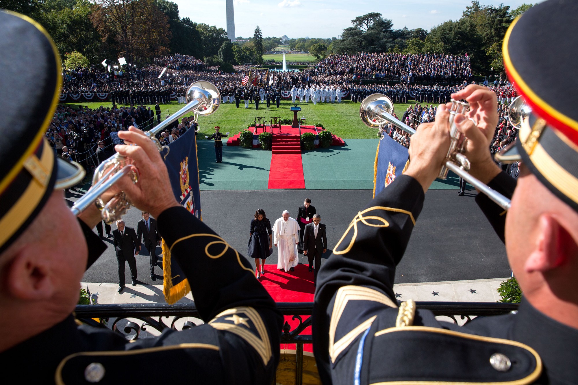
[[409, 166], [404, 174], [421, 184], [424, 193], [436, 179], [439, 165], [450, 147], [450, 113], [444, 105], [438, 107], [434, 123], [422, 123], [409, 145]]

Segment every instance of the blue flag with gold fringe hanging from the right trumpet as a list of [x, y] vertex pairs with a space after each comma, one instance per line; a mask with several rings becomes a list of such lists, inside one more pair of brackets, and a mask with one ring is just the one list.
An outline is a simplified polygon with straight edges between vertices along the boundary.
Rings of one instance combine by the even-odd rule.
[[409, 164], [407, 149], [385, 134], [379, 140], [373, 165], [373, 198], [401, 175]]

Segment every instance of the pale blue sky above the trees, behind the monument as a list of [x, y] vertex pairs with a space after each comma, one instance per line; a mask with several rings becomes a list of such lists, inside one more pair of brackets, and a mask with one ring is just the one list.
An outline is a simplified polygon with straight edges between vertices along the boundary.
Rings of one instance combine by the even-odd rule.
[[[172, 0], [180, 17], [226, 29], [225, 0]], [[480, 3], [511, 8], [543, 0], [481, 0]], [[394, 28], [429, 29], [446, 20], [457, 20], [470, 0], [234, 0], [235, 34], [252, 36], [258, 24], [263, 36], [290, 38], [338, 37], [351, 20], [369, 12], [380, 12]]]

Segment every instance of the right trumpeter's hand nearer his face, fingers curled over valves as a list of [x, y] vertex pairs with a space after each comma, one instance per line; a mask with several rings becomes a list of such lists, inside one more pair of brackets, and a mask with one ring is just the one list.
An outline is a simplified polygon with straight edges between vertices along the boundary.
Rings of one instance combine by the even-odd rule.
[[470, 105], [469, 112], [465, 116], [457, 114], [454, 123], [468, 139], [464, 155], [470, 161], [470, 174], [487, 184], [501, 171], [490, 153], [490, 143], [498, 125], [496, 94], [486, 87], [470, 84], [452, 97], [465, 99]]

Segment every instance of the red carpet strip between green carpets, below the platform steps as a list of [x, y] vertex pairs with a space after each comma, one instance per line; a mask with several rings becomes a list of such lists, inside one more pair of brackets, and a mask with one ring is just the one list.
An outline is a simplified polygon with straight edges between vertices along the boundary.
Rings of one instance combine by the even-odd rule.
[[268, 188], [305, 188], [301, 151], [296, 154], [276, 154], [271, 156]]

